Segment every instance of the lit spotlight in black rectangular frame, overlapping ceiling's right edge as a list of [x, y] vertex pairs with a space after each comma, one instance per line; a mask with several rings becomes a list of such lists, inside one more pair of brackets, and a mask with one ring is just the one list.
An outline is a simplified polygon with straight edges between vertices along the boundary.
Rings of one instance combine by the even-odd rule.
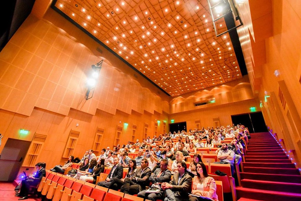
[[[234, 1], [235, 0], [207, 0], [216, 37], [243, 25]], [[227, 23], [229, 18], [234, 20], [234, 23], [231, 23], [233, 26]], [[226, 22], [226, 28], [223, 26], [223, 19]], [[237, 22], [237, 20], [239, 22]], [[219, 30], [222, 31], [222, 33], [218, 33]]]

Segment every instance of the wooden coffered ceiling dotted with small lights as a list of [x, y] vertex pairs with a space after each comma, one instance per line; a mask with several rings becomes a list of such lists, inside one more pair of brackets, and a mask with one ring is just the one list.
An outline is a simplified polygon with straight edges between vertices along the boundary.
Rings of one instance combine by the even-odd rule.
[[[206, 0], [57, 0], [54, 7], [170, 96], [242, 77], [228, 33], [215, 36]], [[216, 26], [226, 30], [223, 18]]]

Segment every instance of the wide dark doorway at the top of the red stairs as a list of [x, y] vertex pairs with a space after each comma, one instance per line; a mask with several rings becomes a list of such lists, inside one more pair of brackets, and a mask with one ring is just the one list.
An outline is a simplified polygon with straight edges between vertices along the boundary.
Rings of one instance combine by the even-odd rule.
[[232, 124], [242, 124], [250, 133], [268, 132], [261, 112], [252, 112], [240, 115], [231, 115]]

